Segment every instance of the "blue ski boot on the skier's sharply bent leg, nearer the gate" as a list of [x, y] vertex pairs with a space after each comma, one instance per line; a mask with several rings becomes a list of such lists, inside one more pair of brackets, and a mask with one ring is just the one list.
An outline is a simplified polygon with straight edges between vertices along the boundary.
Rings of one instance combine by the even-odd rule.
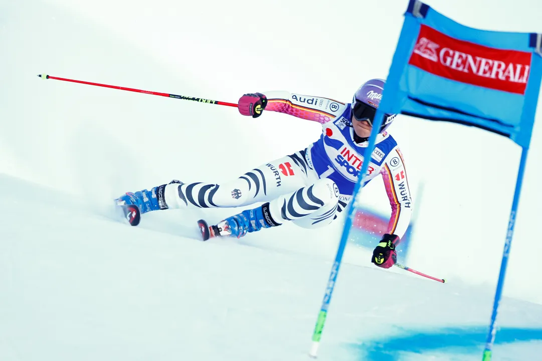
[[247, 233], [260, 231], [262, 228], [280, 226], [269, 213], [269, 203], [254, 209], [247, 209], [239, 214], [230, 216], [216, 226], [208, 226], [204, 220], [198, 221], [204, 241], [212, 237], [241, 238]]

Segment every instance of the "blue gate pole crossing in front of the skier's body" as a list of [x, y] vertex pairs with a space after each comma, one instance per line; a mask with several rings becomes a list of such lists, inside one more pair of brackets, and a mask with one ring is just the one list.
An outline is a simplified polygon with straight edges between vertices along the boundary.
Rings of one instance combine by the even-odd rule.
[[[382, 108], [382, 102], [380, 103], [380, 108]], [[363, 188], [363, 183], [365, 182], [365, 175], [369, 169], [369, 163], [371, 162], [371, 155], [373, 150], [375, 150], [376, 137], [378, 135], [378, 129], [383, 122], [384, 113], [383, 111], [377, 109], [375, 114], [375, 119], [373, 120], [373, 128], [371, 131], [371, 136], [369, 137], [369, 145], [365, 148], [363, 153], [363, 165], [362, 169], [358, 173], [358, 181], [356, 186], [354, 186], [354, 191], [352, 194], [352, 200], [348, 207], [348, 216], [343, 227], [343, 235], [341, 236], [339, 248], [337, 250], [337, 255], [335, 255], [335, 261], [331, 267], [330, 278], [327, 281], [326, 291], [324, 293], [324, 300], [322, 300], [322, 306], [320, 308], [320, 313], [318, 314], [318, 319], [316, 326], [314, 327], [314, 333], [312, 335], [312, 346], [309, 356], [316, 358], [318, 353], [318, 346], [320, 345], [320, 338], [322, 330], [324, 329], [324, 324], [327, 317], [327, 309], [330, 305], [331, 295], [333, 294], [333, 289], [335, 283], [337, 282], [337, 274], [339, 273], [339, 267], [341, 261], [343, 260], [344, 248], [346, 247], [346, 242], [350, 234], [350, 228], [352, 227], [353, 218], [356, 215], [356, 209], [359, 206], [358, 193]]]

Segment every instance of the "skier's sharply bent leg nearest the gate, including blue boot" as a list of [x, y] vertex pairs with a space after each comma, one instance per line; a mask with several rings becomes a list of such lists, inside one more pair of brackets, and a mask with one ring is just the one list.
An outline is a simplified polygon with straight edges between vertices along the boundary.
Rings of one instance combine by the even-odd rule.
[[323, 178], [311, 186], [280, 195], [278, 198], [254, 209], [248, 209], [226, 218], [210, 227], [211, 237], [216, 235], [243, 237], [247, 232], [280, 226], [294, 221], [301, 227], [328, 225], [335, 218], [339, 188], [330, 179]]

